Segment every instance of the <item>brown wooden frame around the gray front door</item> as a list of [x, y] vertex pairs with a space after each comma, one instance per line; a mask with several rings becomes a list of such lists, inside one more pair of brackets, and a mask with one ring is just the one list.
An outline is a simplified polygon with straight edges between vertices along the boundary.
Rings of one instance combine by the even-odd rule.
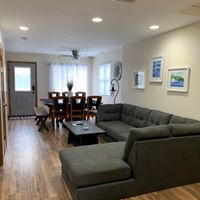
[[38, 97], [38, 86], [37, 86], [37, 62], [30, 62], [30, 61], [7, 61], [7, 80], [8, 80], [8, 107], [9, 107], [9, 116], [11, 115], [11, 95], [10, 95], [10, 76], [9, 76], [9, 64], [10, 63], [28, 63], [35, 65], [35, 106], [37, 107], [37, 97]]

